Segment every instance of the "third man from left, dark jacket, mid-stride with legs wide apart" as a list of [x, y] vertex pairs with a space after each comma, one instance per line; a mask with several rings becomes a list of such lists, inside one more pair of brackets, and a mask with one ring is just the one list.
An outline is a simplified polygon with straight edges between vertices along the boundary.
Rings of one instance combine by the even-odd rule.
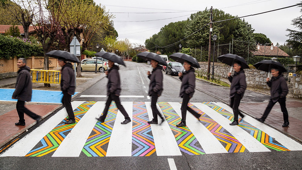
[[126, 110], [124, 109], [123, 105], [121, 105], [120, 102], [120, 74], [119, 74], [119, 67], [114, 65], [114, 62], [108, 61], [109, 71], [106, 72], [107, 78], [108, 78], [108, 84], [107, 84], [107, 102], [103, 111], [103, 115], [101, 115], [97, 120], [100, 122], [105, 122], [105, 118], [108, 113], [109, 106], [114, 100], [115, 104], [117, 105], [117, 108], [120, 110], [120, 112], [124, 115], [125, 120], [121, 122], [121, 124], [127, 124], [131, 122], [131, 119], [129, 115], [127, 114]]

